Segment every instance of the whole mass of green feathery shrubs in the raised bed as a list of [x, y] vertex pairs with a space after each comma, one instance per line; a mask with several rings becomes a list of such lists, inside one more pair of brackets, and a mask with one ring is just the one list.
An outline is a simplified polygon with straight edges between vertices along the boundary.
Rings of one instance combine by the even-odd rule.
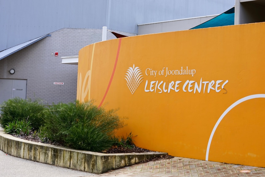
[[6, 133], [38, 132], [43, 143], [58, 142], [74, 149], [100, 152], [118, 143], [115, 132], [124, 127], [117, 110], [93, 102], [59, 103], [45, 107], [36, 99], [9, 99], [1, 107], [0, 123]]

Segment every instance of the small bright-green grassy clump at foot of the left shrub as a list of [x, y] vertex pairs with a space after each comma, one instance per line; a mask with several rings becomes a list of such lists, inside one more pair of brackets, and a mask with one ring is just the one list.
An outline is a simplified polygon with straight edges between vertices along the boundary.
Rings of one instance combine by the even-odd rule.
[[32, 127], [30, 125], [30, 121], [27, 120], [14, 120], [13, 122], [9, 122], [6, 127], [4, 127], [4, 131], [8, 134], [15, 135], [29, 135]]

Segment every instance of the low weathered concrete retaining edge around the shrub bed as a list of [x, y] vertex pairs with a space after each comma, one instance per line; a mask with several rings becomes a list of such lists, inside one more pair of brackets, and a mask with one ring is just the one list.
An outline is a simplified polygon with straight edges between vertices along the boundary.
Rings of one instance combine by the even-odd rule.
[[105, 154], [74, 150], [16, 138], [2, 129], [0, 149], [15, 157], [96, 174], [167, 155], [162, 152]]

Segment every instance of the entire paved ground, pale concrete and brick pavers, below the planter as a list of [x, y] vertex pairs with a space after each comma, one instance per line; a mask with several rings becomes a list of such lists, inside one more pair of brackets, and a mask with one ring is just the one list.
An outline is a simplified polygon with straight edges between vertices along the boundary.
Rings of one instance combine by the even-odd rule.
[[265, 177], [265, 168], [175, 157], [136, 164], [107, 173], [70, 170], [20, 159], [0, 151], [0, 177]]

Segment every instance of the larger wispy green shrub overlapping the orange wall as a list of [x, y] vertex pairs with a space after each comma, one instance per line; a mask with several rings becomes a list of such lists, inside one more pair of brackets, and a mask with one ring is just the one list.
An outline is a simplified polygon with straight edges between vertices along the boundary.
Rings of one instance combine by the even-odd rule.
[[103, 151], [115, 142], [115, 131], [124, 127], [117, 110], [97, 108], [92, 102], [59, 103], [45, 115], [42, 139], [50, 139], [80, 150]]

